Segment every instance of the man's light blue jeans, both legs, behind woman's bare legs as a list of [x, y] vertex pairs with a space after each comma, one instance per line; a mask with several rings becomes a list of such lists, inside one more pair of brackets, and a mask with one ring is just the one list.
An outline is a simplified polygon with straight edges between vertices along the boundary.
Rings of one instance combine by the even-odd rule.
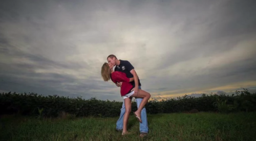
[[[140, 86], [139, 86], [139, 89], [141, 89]], [[137, 107], [139, 108], [142, 99], [141, 98], [136, 98], [135, 100], [136, 100], [136, 103], [137, 103]], [[123, 129], [123, 116], [124, 116], [124, 113], [125, 113], [125, 106], [124, 106], [124, 101], [123, 101], [120, 117], [119, 117], [119, 119], [116, 122], [116, 129], [117, 130], [122, 130]], [[148, 133], [147, 118], [146, 118], [146, 108], [145, 107], [143, 107], [143, 109], [141, 110], [141, 120], [142, 120], [142, 123], [140, 123], [140, 132]]]

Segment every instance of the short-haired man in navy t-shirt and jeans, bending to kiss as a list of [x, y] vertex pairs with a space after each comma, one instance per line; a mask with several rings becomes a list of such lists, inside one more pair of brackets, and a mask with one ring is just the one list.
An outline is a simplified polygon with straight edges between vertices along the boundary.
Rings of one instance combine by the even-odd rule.
[[[138, 75], [137, 75], [133, 65], [129, 61], [118, 60], [115, 55], [109, 55], [106, 59], [108, 60], [109, 63], [116, 66], [114, 71], [119, 71], [119, 72], [125, 73], [127, 78], [134, 78], [134, 81], [131, 82], [131, 83], [133, 83], [135, 85], [135, 87], [134, 87], [135, 96], [138, 96], [139, 95], [139, 89], [141, 89], [141, 83], [140, 83], [140, 80], [138, 78]], [[116, 85], [118, 87], [120, 87], [122, 85], [122, 82], [117, 83]], [[141, 98], [136, 98], [137, 107], [139, 107], [141, 101], [142, 101]], [[124, 107], [124, 102], [123, 102], [120, 117], [119, 117], [119, 119], [116, 123], [116, 130], [120, 131], [123, 128], [123, 115], [124, 115], [124, 113], [125, 113], [125, 107]], [[142, 123], [140, 123], [140, 136], [143, 137], [143, 136], [147, 135], [147, 133], [148, 133], [147, 117], [146, 117], [145, 107], [141, 110], [141, 120], [142, 120]]]

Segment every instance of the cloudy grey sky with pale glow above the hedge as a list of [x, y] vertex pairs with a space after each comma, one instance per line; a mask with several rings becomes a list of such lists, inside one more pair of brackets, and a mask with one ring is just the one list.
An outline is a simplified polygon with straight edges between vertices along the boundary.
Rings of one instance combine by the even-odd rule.
[[[100, 69], [129, 60], [152, 97], [256, 87], [254, 0], [3, 1], [0, 91], [122, 100]], [[254, 89], [255, 90], [255, 89]]]

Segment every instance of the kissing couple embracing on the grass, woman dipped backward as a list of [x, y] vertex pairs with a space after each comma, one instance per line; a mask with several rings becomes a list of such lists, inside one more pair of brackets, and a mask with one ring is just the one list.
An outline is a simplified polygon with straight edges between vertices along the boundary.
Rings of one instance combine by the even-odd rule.
[[118, 60], [115, 55], [109, 55], [106, 59], [108, 63], [105, 62], [102, 65], [101, 77], [104, 81], [112, 80], [116, 86], [120, 87], [120, 95], [124, 100], [116, 123], [116, 130], [122, 130], [122, 135], [129, 134], [127, 124], [132, 109], [132, 98], [134, 97], [138, 108], [134, 115], [140, 123], [140, 136], [147, 135], [147, 117], [144, 106], [151, 97], [150, 93], [141, 89], [139, 77], [129, 61]]

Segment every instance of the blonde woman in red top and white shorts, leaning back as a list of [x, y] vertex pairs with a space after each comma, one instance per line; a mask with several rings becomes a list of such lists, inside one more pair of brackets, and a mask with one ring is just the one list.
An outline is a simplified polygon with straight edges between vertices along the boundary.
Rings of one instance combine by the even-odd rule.
[[[130, 83], [134, 81], [134, 78], [127, 78], [125, 73], [122, 72], [114, 72], [113, 65], [104, 63], [101, 67], [101, 76], [104, 81], [109, 81], [110, 79], [114, 82], [122, 82], [122, 86], [120, 89], [121, 97], [124, 99], [125, 113], [123, 117], [123, 132], [122, 135], [127, 134], [127, 123], [129, 120], [129, 114], [132, 109], [132, 98], [134, 97], [134, 87], [135, 85]], [[136, 118], [140, 123], [141, 121], [141, 110], [150, 99], [150, 93], [139, 89], [139, 95], [136, 98], [143, 98], [138, 110], [134, 112]]]

